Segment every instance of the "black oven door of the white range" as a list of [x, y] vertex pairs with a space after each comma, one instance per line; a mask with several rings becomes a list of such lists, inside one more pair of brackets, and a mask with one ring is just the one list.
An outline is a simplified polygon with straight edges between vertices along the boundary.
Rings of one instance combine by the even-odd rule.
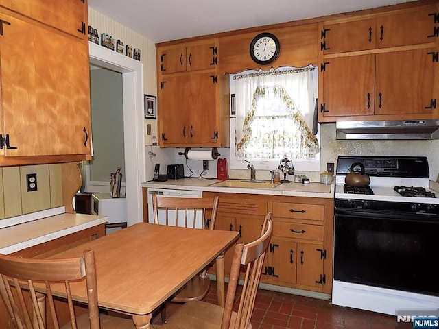
[[335, 209], [334, 279], [439, 295], [439, 219]]

